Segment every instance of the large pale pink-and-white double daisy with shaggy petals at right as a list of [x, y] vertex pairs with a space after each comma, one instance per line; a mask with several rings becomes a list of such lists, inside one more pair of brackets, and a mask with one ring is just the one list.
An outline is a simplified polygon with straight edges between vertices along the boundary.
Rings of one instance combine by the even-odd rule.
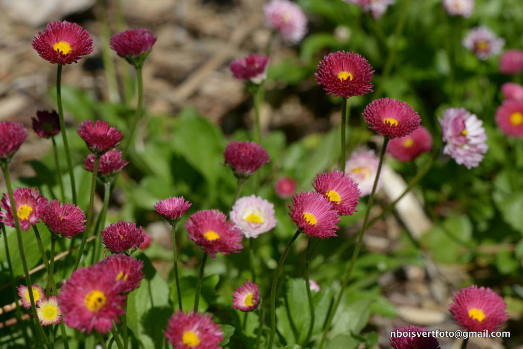
[[443, 112], [442, 119], [438, 118], [438, 122], [441, 125], [443, 142], [447, 142], [443, 153], [469, 170], [479, 166], [483, 160], [482, 154], [488, 150], [483, 121], [464, 108], [449, 108]]

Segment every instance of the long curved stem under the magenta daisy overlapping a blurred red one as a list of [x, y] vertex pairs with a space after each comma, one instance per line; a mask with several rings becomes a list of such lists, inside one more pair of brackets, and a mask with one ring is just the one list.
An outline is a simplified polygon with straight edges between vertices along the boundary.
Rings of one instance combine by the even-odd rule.
[[325, 324], [325, 329], [323, 330], [323, 336], [322, 336], [322, 340], [320, 342], [319, 349], [323, 348], [323, 344], [325, 343], [325, 339], [327, 338], [327, 332], [328, 332], [329, 328], [331, 327], [332, 319], [334, 318], [336, 309], [338, 308], [339, 303], [342, 300], [343, 294], [345, 292], [345, 289], [347, 288], [347, 285], [349, 283], [350, 274], [353, 271], [354, 264], [356, 263], [356, 259], [358, 258], [358, 253], [361, 249], [361, 245], [363, 242], [363, 235], [365, 234], [365, 231], [367, 230], [367, 223], [369, 221], [370, 210], [372, 208], [372, 203], [374, 202], [374, 195], [376, 194], [376, 188], [378, 186], [378, 180], [380, 178], [380, 172], [381, 172], [381, 167], [383, 165], [383, 158], [385, 157], [385, 149], [387, 147], [387, 143], [389, 143], [389, 138], [385, 136], [384, 141], [383, 141], [383, 146], [381, 147], [380, 163], [378, 165], [378, 171], [376, 172], [376, 178], [374, 178], [374, 185], [372, 186], [372, 191], [369, 196], [369, 203], [367, 205], [367, 210], [365, 211], [365, 218], [363, 219], [363, 225], [362, 225], [361, 231], [359, 232], [359, 235], [358, 235], [358, 242], [356, 243], [356, 248], [353, 253], [353, 258], [350, 260], [349, 268], [347, 269], [347, 273], [345, 274], [345, 279], [342, 284], [342, 289], [339, 290], [339, 294], [334, 303], [334, 307], [332, 308], [332, 311], [328, 315], [327, 322]]

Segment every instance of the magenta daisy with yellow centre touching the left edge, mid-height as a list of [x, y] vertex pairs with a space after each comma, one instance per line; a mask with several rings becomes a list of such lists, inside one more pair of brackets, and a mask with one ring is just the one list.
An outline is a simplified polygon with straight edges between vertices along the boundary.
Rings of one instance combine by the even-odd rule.
[[[40, 217], [47, 208], [47, 199], [40, 195], [36, 188], [17, 188], [13, 192], [13, 196], [20, 229], [28, 231], [30, 226], [40, 222]], [[5, 212], [0, 211], [0, 217], [4, 217], [0, 219], [0, 222], [10, 227], [16, 227], [11, 201], [7, 193], [2, 197], [0, 206], [5, 210]]]

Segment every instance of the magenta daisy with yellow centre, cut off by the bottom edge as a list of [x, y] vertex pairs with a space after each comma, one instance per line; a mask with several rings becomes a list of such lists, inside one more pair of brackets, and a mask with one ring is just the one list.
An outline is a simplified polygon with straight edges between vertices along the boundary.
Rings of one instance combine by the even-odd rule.
[[165, 338], [174, 349], [217, 349], [223, 341], [220, 325], [209, 314], [176, 311], [167, 322]]

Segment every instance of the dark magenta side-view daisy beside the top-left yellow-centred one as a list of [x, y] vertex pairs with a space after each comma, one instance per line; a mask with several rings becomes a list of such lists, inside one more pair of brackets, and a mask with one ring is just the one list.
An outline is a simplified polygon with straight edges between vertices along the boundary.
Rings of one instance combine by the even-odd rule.
[[135, 68], [142, 67], [156, 37], [147, 29], [127, 29], [111, 37], [109, 46]]

